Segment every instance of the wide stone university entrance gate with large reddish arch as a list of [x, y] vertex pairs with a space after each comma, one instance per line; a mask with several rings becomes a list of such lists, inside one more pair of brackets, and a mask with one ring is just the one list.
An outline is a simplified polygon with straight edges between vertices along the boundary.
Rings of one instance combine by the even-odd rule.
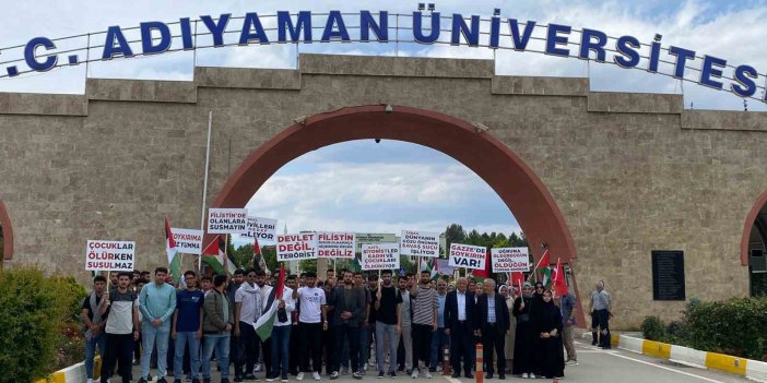
[[683, 308], [653, 299], [658, 251], [682, 252], [687, 298], [748, 294], [765, 115], [590, 92], [587, 79], [497, 76], [493, 61], [302, 55], [298, 68], [197, 68], [193, 82], [91, 79], [84, 96], [2, 95], [9, 264], [84, 280], [93, 238], [135, 240], [141, 268], [164, 263], [163, 217], [200, 222], [212, 111], [208, 206], [244, 206], [318, 147], [402, 140], [482, 177], [536, 258], [547, 246], [573, 265], [581, 303], [604, 279], [617, 325]]

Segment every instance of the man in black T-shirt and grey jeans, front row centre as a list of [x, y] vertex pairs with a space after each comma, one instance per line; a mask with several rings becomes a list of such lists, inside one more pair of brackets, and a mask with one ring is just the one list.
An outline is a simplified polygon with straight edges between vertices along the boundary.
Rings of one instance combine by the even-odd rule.
[[376, 318], [376, 362], [378, 378], [384, 378], [386, 337], [389, 338], [389, 376], [397, 378], [397, 348], [400, 344], [402, 331], [401, 307], [402, 296], [397, 292], [391, 283], [391, 271], [381, 272], [381, 287], [376, 291], [373, 300], [373, 310]]

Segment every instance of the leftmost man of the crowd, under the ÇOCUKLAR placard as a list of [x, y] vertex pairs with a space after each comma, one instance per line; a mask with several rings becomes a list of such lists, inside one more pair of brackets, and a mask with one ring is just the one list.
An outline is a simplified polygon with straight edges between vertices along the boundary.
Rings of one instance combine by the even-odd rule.
[[83, 299], [81, 319], [85, 330], [85, 378], [87, 383], [93, 383], [93, 358], [98, 354], [104, 355], [106, 337], [104, 327], [106, 326], [106, 315], [102, 315], [98, 304], [104, 297], [106, 278], [96, 275], [93, 278], [93, 291]]

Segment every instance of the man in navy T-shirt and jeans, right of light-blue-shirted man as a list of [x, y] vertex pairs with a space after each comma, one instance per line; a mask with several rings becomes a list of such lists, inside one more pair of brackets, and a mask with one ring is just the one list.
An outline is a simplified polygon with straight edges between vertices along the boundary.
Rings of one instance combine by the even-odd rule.
[[174, 375], [175, 383], [181, 383], [184, 355], [189, 346], [189, 378], [192, 383], [200, 383], [200, 342], [202, 340], [202, 306], [205, 296], [197, 288], [197, 273], [184, 273], [187, 288], [176, 295], [176, 312], [173, 315], [170, 337], [175, 339]]

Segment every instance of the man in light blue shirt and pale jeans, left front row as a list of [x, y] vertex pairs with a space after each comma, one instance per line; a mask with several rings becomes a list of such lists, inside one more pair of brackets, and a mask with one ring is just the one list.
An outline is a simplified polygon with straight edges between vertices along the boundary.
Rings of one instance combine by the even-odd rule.
[[170, 337], [170, 318], [176, 311], [176, 289], [166, 284], [168, 270], [157, 267], [154, 271], [154, 283], [145, 285], [139, 295], [139, 309], [143, 316], [141, 333], [143, 334], [141, 355], [141, 379], [146, 383], [150, 372], [152, 349], [157, 347], [157, 382], [166, 383], [168, 339]]

